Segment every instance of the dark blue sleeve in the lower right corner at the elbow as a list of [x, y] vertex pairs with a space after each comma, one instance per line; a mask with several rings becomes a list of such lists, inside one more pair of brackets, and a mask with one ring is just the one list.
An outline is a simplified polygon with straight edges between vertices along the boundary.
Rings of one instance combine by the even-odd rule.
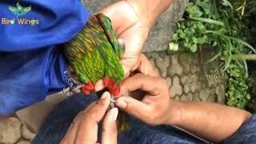
[[256, 115], [254, 114], [247, 122], [245, 122], [239, 130], [230, 138], [226, 138], [222, 143], [256, 143]]

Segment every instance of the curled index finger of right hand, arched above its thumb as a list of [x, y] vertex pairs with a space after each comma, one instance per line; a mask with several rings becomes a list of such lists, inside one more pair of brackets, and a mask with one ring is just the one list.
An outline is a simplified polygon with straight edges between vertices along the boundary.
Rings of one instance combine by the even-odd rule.
[[166, 81], [159, 77], [151, 77], [145, 74], [135, 74], [130, 78], [126, 78], [121, 85], [119, 95], [126, 94], [129, 91], [144, 90], [148, 94], [154, 96], [161, 94], [161, 90], [167, 86]]

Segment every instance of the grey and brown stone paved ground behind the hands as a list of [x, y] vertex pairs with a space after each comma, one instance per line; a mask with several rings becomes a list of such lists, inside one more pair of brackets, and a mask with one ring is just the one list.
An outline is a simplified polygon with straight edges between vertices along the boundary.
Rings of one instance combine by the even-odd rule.
[[[115, 0], [83, 0], [92, 14]], [[172, 98], [183, 102], [225, 102], [225, 75], [218, 69], [219, 62], [204, 64], [204, 52], [188, 54], [171, 53], [168, 43], [175, 22], [182, 18], [187, 0], [174, 0], [173, 6], [162, 14], [146, 42], [146, 56], [155, 70], [165, 78]], [[94, 3], [94, 5], [92, 4]], [[210, 58], [210, 57], [209, 57]], [[18, 119], [0, 122], [0, 144], [28, 144], [34, 138]]]

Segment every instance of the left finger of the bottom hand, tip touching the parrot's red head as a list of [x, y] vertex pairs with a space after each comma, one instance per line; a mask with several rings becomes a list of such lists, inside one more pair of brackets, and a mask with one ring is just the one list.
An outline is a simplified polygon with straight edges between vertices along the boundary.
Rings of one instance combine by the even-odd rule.
[[98, 140], [98, 122], [106, 114], [110, 105], [110, 93], [105, 92], [102, 98], [90, 106], [89, 109], [83, 110], [81, 121], [76, 134], [76, 143], [96, 143]]

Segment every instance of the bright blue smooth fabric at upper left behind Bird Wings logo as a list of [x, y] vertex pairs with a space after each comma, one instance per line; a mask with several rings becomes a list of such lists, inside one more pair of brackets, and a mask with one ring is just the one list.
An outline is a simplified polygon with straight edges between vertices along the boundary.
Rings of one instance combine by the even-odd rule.
[[[9, 6], [31, 6], [15, 15]], [[11, 114], [42, 101], [46, 94], [62, 90], [66, 62], [56, 45], [68, 42], [90, 17], [78, 0], [22, 0], [0, 2], [0, 114]], [[18, 19], [35, 20], [32, 26]], [[13, 20], [14, 24], [6, 19]]]

